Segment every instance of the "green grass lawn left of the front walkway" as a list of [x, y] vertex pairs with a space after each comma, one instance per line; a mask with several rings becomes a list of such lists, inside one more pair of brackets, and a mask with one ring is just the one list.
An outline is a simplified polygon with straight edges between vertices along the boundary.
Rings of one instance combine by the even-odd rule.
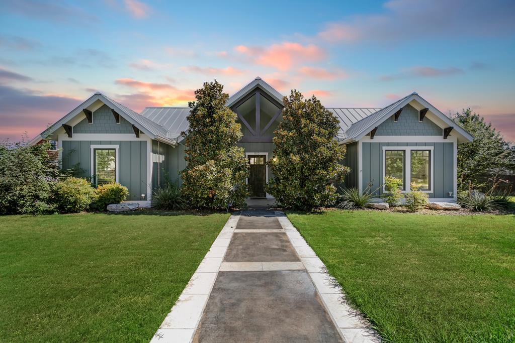
[[0, 217], [0, 341], [148, 342], [228, 217]]

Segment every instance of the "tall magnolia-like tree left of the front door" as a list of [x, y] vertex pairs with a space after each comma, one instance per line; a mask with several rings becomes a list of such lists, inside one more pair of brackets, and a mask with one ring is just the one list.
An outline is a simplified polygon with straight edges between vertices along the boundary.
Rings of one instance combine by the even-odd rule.
[[190, 102], [186, 136], [186, 169], [182, 171], [183, 194], [194, 208], [242, 206], [248, 195], [248, 165], [236, 114], [226, 106], [224, 86], [205, 82]]

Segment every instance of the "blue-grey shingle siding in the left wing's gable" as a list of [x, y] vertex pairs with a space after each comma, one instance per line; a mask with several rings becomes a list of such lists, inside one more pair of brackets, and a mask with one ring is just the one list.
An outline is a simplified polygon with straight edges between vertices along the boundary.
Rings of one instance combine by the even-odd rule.
[[73, 127], [73, 133], [134, 133], [130, 122], [120, 117], [120, 123], [114, 120], [111, 109], [103, 105], [93, 112], [93, 122], [84, 118]]

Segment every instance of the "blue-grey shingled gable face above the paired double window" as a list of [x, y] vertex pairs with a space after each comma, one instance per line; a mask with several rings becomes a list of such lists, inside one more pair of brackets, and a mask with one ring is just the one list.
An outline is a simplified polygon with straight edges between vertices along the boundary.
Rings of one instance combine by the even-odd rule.
[[419, 121], [419, 111], [407, 104], [397, 121], [393, 115], [377, 126], [376, 136], [441, 136], [442, 128], [425, 117]]

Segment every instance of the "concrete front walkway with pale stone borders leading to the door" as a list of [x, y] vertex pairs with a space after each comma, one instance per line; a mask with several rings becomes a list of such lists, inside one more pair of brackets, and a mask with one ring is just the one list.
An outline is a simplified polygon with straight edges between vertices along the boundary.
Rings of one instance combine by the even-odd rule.
[[369, 342], [286, 216], [232, 215], [152, 342]]

